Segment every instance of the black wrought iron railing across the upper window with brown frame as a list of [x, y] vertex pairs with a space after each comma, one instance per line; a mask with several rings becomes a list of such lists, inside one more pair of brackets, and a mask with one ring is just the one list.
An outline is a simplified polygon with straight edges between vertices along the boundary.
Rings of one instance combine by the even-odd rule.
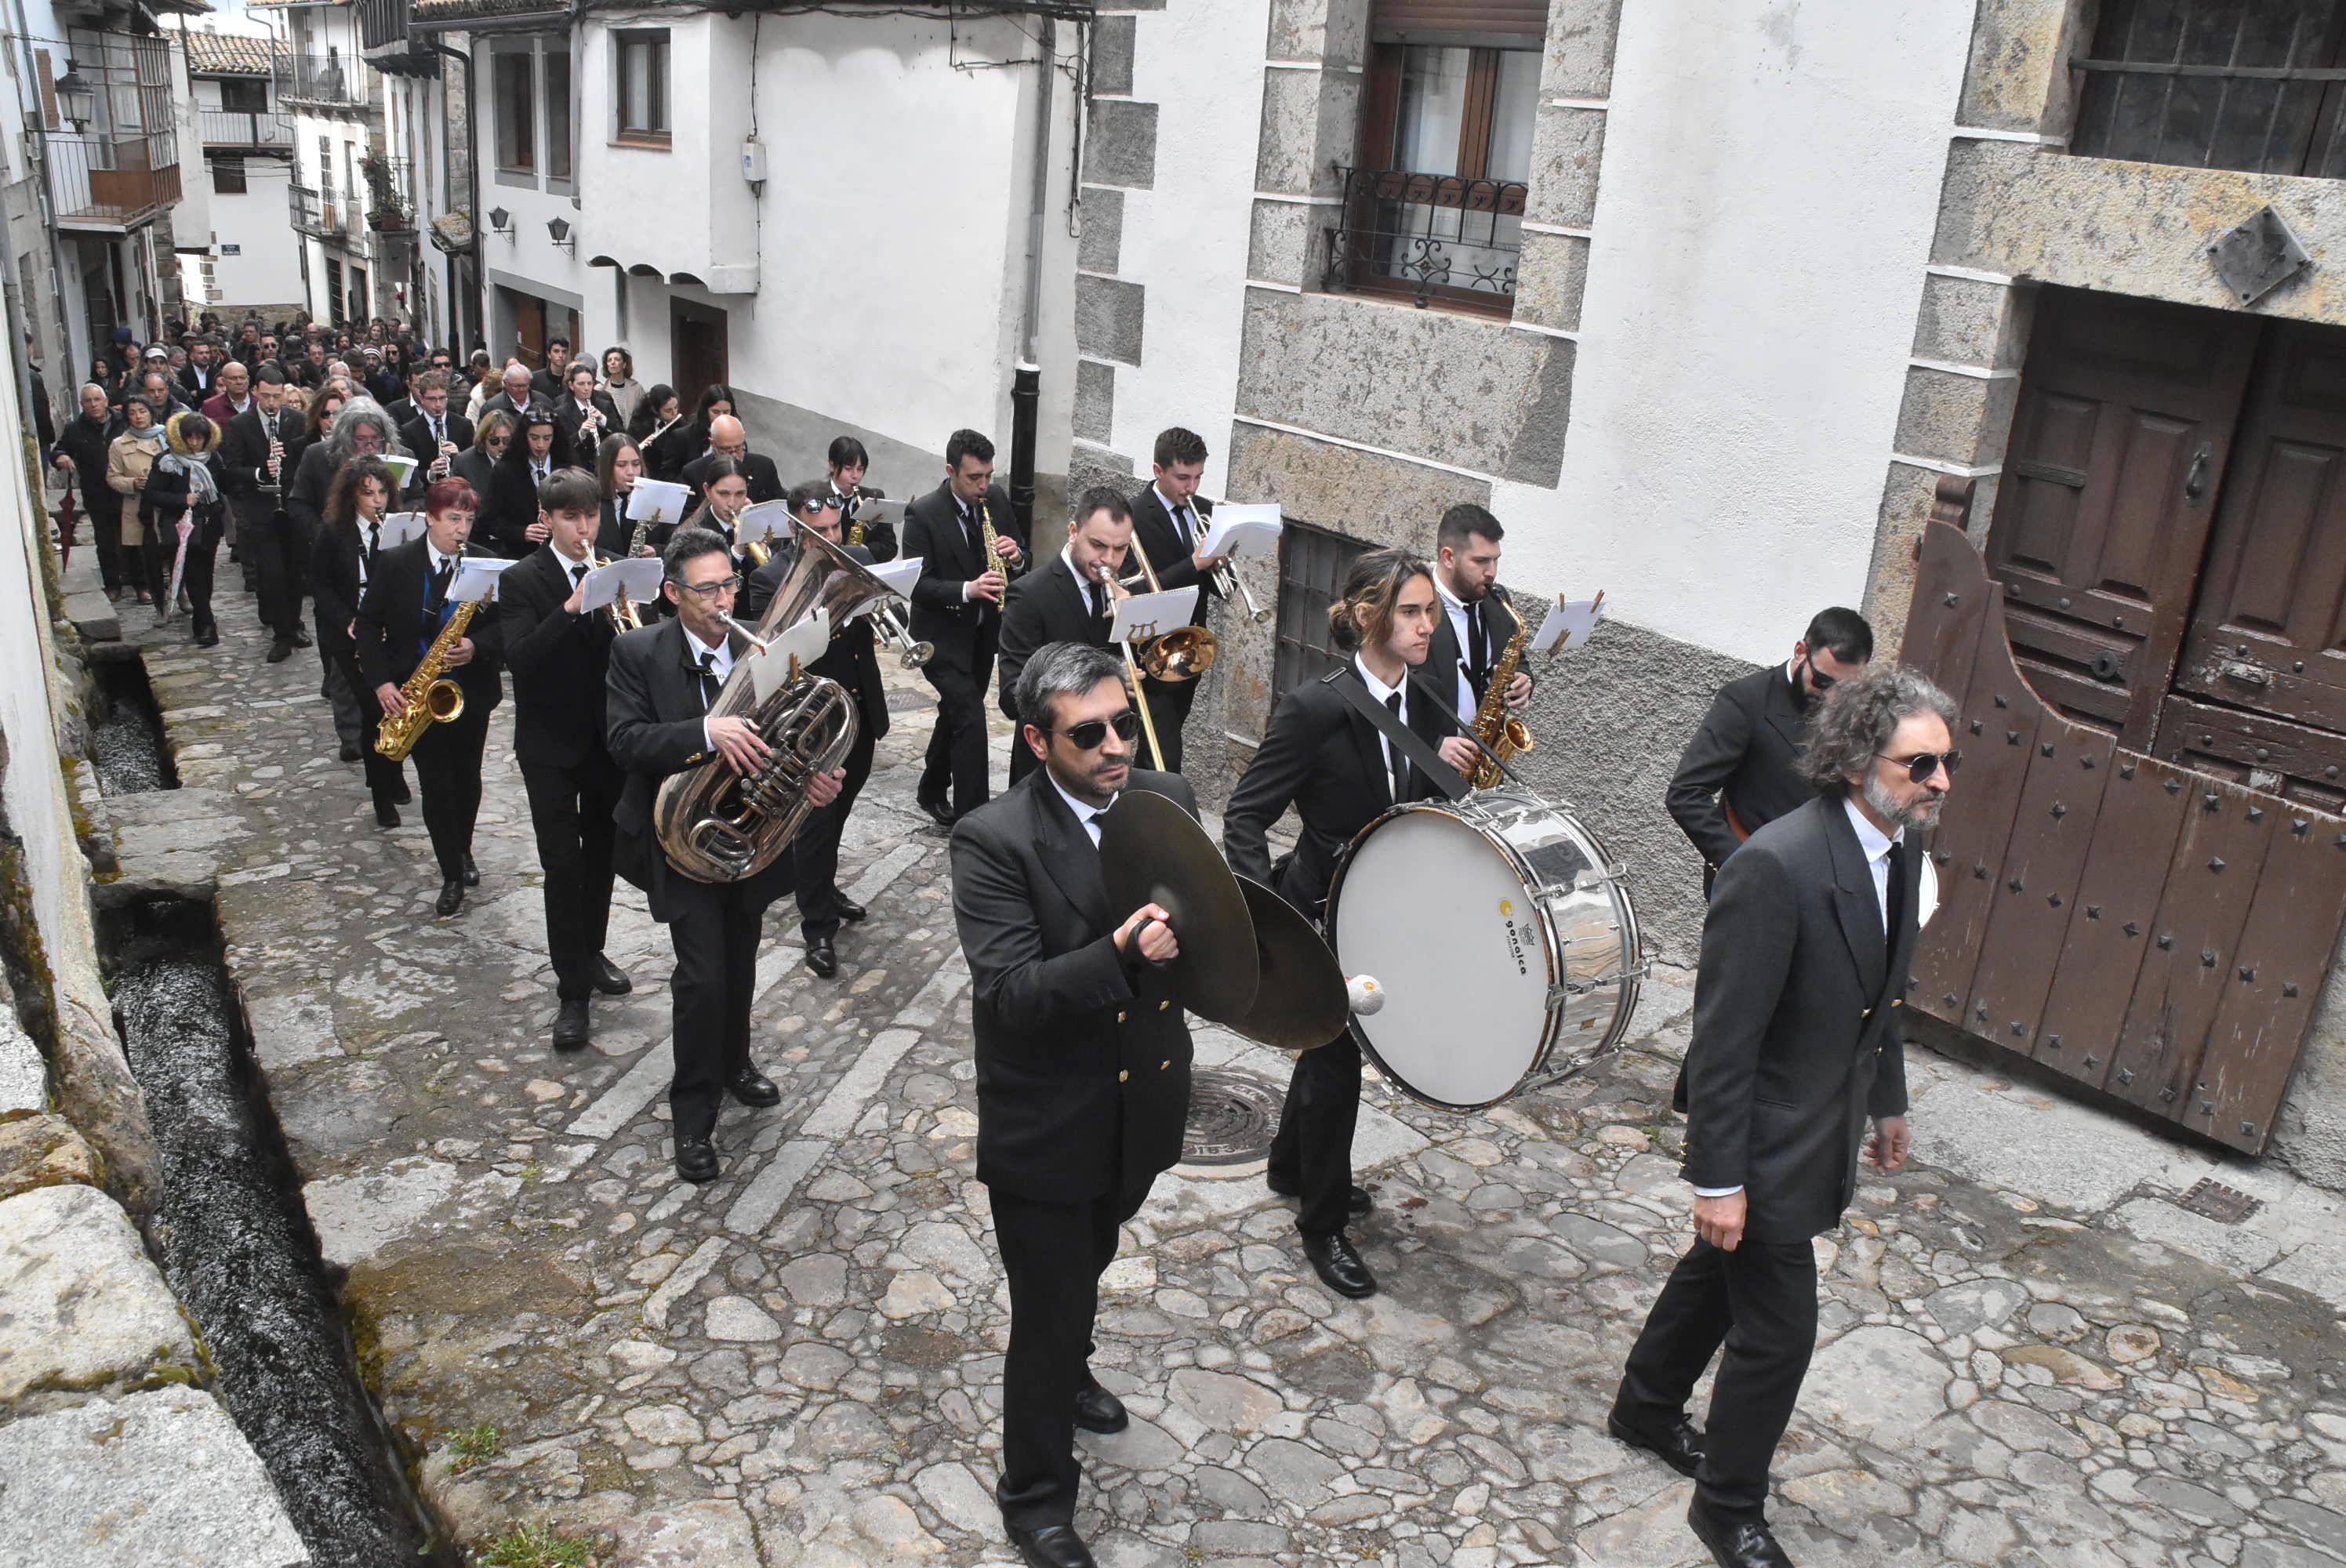
[[1330, 291], [1405, 293], [1426, 305], [1508, 310], [1523, 254], [1523, 181], [1337, 167]]

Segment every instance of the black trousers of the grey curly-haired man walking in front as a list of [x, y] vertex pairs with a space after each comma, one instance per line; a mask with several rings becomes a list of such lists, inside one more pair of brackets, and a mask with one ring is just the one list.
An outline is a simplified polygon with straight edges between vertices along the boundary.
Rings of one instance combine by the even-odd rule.
[[1816, 1352], [1816, 1251], [1809, 1242], [1743, 1237], [1734, 1251], [1720, 1251], [1696, 1239], [1645, 1314], [1614, 1415], [1645, 1432], [1668, 1430], [1720, 1345], [1727, 1354], [1710, 1390], [1694, 1493], [1729, 1519], [1760, 1519], [1769, 1460]]

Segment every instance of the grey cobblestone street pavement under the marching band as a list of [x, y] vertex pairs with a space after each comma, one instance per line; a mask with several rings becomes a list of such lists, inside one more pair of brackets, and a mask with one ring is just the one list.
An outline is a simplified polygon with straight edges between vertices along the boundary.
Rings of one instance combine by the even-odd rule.
[[[108, 803], [124, 871], [216, 873], [310, 1211], [443, 1519], [601, 1533], [605, 1563], [1011, 1561], [967, 972], [910, 803], [927, 688], [899, 678], [849, 833], [870, 922], [816, 981], [777, 906], [758, 1049], [784, 1103], [727, 1108], [725, 1176], [690, 1188], [659, 1103], [669, 948], [631, 892], [610, 955], [636, 993], [596, 1000], [594, 1049], [547, 1047], [509, 718], [483, 885], [436, 920], [418, 815], [373, 826], [312, 655], [263, 664], [242, 601], [211, 653], [124, 620], [185, 784]], [[1487, 1115], [1372, 1089], [1372, 1300], [1318, 1289], [1255, 1167], [1161, 1181], [1100, 1312], [1133, 1411], [1084, 1439], [1100, 1559], [1703, 1561], [1687, 1483], [1602, 1434], [1689, 1239], [1666, 1108], [1687, 1002], [1656, 974], [1626, 1052]], [[1199, 1045], [1283, 1082], [1283, 1056]], [[1933, 1056], [1914, 1082], [1917, 1164], [1818, 1242], [1823, 1345], [1774, 1505], [1795, 1561], [2346, 1559], [2334, 1199]], [[2172, 1204], [2208, 1171], [2266, 1195], [2266, 1230]], [[460, 1467], [479, 1422], [502, 1455]]]

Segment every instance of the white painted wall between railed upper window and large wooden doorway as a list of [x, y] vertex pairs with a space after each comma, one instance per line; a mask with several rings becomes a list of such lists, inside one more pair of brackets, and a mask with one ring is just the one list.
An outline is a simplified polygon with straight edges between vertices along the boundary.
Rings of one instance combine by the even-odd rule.
[[1494, 486], [1508, 577], [1748, 660], [1860, 601], [1971, 16], [1623, 7], [1562, 484]]

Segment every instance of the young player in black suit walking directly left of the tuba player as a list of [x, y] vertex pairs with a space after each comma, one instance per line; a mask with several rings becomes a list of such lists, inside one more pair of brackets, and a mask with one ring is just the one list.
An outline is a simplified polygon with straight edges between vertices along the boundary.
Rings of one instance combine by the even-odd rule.
[[619, 765], [603, 744], [610, 610], [582, 610], [594, 570], [596, 481], [556, 469], [537, 486], [547, 542], [497, 580], [504, 664], [514, 674], [514, 761], [530, 796], [544, 871], [547, 958], [554, 962], [554, 1049], [586, 1045], [586, 998], [626, 995], [603, 958], [610, 932], [610, 843]]

